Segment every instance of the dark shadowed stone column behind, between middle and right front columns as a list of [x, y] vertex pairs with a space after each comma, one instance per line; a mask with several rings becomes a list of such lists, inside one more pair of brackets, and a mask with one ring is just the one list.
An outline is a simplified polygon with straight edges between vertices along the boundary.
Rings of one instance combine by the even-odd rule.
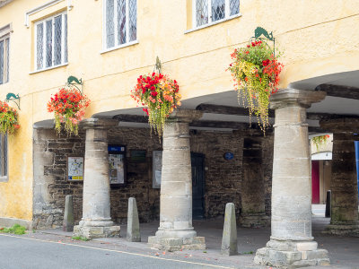
[[241, 182], [241, 217], [243, 227], [264, 227], [265, 213], [262, 133], [250, 132], [243, 141], [243, 179]]

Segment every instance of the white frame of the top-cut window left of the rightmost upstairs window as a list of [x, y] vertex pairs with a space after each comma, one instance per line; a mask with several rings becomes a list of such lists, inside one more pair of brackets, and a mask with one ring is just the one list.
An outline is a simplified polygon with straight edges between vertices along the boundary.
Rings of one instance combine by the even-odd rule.
[[138, 0], [136, 0], [136, 39], [129, 41], [129, 0], [126, 0], [126, 42], [123, 44], [118, 44], [118, 1], [114, 0], [114, 32], [115, 32], [115, 45], [113, 47], [107, 47], [107, 26], [106, 26], [106, 19], [107, 19], [107, 0], [103, 1], [102, 4], [102, 14], [103, 14], [103, 20], [102, 20], [102, 51], [101, 53], [108, 52], [114, 49], [118, 48], [124, 48], [131, 45], [135, 45], [138, 43], [138, 27], [137, 27], [137, 18], [138, 18]]

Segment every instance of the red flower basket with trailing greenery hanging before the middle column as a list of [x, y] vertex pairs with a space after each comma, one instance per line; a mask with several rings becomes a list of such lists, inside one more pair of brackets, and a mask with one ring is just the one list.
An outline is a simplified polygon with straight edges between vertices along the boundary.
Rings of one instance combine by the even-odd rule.
[[163, 126], [174, 108], [180, 106], [179, 85], [164, 74], [140, 75], [131, 97], [143, 108], [148, 115], [151, 130], [161, 138]]

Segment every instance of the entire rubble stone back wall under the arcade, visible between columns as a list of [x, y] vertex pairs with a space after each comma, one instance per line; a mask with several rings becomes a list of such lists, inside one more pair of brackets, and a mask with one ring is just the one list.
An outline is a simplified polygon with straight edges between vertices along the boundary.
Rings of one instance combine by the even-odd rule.
[[[270, 213], [270, 181], [273, 139], [264, 143], [264, 172], [266, 213]], [[191, 152], [205, 155], [205, 217], [223, 215], [226, 203], [236, 205], [241, 213], [242, 146], [241, 132], [191, 131]], [[162, 150], [158, 137], [149, 129], [113, 128], [109, 144], [126, 146], [127, 185], [111, 188], [111, 217], [125, 223], [129, 197], [135, 197], [141, 222], [159, 219], [160, 189], [152, 187], [152, 152]], [[144, 162], [131, 162], [131, 150], [144, 150]], [[226, 161], [225, 152], [234, 158]], [[36, 229], [62, 226], [66, 195], [74, 195], [74, 221], [82, 217], [83, 182], [66, 180], [66, 156], [84, 154], [84, 132], [80, 136], [57, 136], [54, 130], [34, 130], [34, 227]]]

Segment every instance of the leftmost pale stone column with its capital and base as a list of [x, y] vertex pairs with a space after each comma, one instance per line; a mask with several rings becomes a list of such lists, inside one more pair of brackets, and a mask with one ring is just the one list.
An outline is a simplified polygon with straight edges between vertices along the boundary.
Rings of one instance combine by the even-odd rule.
[[117, 126], [116, 120], [88, 118], [81, 126], [86, 130], [83, 219], [74, 227], [74, 236], [87, 239], [119, 236], [119, 226], [113, 226], [109, 204], [109, 153], [107, 132]]

